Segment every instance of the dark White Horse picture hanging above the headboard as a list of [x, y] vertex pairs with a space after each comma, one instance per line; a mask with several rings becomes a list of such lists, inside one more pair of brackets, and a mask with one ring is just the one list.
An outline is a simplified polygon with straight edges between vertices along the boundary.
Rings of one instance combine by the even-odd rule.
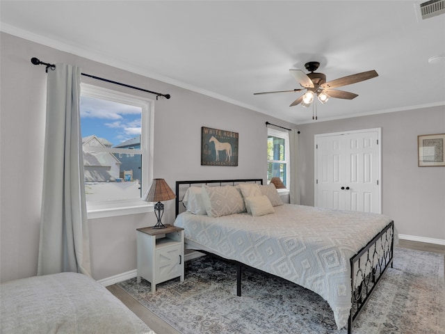
[[238, 166], [238, 132], [201, 127], [201, 165]]

